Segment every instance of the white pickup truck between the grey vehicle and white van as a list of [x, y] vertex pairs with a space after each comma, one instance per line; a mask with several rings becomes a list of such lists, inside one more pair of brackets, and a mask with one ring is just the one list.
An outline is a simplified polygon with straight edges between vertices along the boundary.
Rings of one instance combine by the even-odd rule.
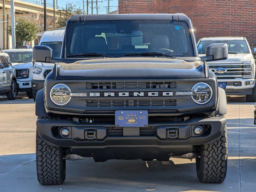
[[16, 69], [18, 92], [26, 92], [28, 98], [33, 98], [31, 80], [33, 76], [33, 49], [8, 49], [1, 52], [10, 56], [12, 66]]

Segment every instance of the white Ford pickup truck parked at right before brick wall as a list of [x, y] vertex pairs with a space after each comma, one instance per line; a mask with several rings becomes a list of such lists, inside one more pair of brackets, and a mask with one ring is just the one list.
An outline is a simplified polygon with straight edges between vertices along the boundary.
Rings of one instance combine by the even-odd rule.
[[215, 73], [218, 85], [227, 95], [246, 95], [247, 102], [256, 102], [255, 60], [244, 37], [202, 38], [197, 44], [199, 56], [204, 56], [207, 46], [212, 43], [226, 43], [227, 60], [208, 62]]

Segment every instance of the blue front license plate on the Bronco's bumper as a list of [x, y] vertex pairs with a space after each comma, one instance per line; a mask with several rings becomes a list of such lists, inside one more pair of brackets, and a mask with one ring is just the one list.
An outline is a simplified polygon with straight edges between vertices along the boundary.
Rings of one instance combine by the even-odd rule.
[[148, 112], [147, 110], [116, 110], [115, 126], [116, 127], [147, 127]]

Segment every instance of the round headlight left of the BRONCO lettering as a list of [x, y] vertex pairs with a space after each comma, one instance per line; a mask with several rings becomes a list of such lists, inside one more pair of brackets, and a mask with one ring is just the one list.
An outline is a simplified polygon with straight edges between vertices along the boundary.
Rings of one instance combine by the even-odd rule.
[[70, 88], [65, 84], [56, 84], [50, 90], [50, 98], [56, 105], [66, 105], [70, 102], [70, 93]]

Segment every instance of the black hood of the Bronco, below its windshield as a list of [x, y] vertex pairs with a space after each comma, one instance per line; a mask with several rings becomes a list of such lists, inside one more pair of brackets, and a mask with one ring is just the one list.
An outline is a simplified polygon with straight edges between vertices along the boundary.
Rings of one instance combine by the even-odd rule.
[[[57, 69], [56, 69], [57, 68]], [[203, 62], [170, 58], [102, 58], [56, 63], [56, 79], [205, 78]]]

